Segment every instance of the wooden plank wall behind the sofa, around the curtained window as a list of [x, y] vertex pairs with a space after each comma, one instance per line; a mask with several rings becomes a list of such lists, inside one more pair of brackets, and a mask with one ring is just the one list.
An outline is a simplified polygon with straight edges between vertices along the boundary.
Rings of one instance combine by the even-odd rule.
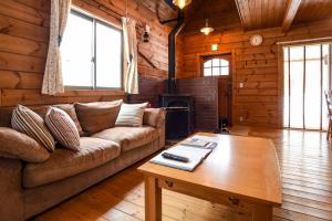
[[[0, 105], [92, 102], [124, 97], [123, 92], [112, 91], [69, 91], [58, 96], [41, 95], [49, 41], [50, 2], [0, 1]], [[138, 22], [139, 74], [165, 78], [168, 70], [169, 27], [160, 25], [156, 14], [142, 2], [128, 0], [128, 15]], [[121, 24], [118, 14], [125, 12], [123, 0], [73, 0], [73, 4], [117, 25]], [[141, 40], [145, 23], [152, 28], [149, 43]]]

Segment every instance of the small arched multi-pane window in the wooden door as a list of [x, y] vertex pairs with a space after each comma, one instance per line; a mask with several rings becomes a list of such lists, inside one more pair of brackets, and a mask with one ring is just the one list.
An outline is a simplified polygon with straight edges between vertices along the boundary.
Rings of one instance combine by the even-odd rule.
[[229, 61], [217, 57], [205, 60], [203, 71], [204, 76], [229, 75]]

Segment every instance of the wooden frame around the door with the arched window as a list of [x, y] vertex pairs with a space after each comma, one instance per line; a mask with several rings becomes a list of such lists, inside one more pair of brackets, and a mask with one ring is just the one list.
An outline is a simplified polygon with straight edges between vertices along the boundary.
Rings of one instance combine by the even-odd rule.
[[[218, 55], [230, 55], [230, 70], [231, 73], [229, 75], [230, 77], [230, 82], [231, 82], [231, 90], [230, 90], [230, 126], [232, 126], [232, 123], [235, 122], [235, 115], [234, 115], [234, 108], [235, 108], [235, 98], [236, 98], [236, 92], [235, 92], [235, 86], [236, 85], [236, 50], [222, 50], [222, 51], [214, 51], [214, 52], [205, 52], [205, 53], [197, 53], [196, 54], [196, 71], [198, 74], [198, 77], [205, 77], [203, 76], [203, 66], [201, 66], [201, 62], [203, 62], [203, 57], [205, 56], [218, 56]], [[214, 77], [214, 76], [211, 76]], [[220, 76], [216, 76], [216, 77], [220, 77]], [[222, 77], [222, 76], [221, 76]], [[218, 106], [219, 106], [219, 98], [218, 98]], [[219, 113], [217, 113], [218, 115], [218, 119], [219, 119]]]

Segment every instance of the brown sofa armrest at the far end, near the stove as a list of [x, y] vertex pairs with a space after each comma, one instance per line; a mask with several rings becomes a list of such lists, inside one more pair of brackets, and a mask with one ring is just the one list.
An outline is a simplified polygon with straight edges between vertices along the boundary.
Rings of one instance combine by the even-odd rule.
[[164, 108], [146, 108], [143, 125], [160, 128], [165, 125], [166, 110]]

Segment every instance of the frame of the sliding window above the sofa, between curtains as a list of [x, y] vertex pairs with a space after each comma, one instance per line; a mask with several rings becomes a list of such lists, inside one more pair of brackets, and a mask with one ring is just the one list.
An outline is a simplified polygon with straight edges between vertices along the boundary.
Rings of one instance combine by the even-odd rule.
[[[91, 77], [92, 77], [92, 86], [73, 86], [73, 85], [64, 85], [64, 90], [65, 91], [123, 91], [124, 88], [124, 66], [123, 66], [123, 62], [124, 62], [124, 45], [123, 45], [123, 30], [122, 28], [112, 24], [111, 22], [107, 22], [103, 19], [100, 19], [89, 12], [82, 11], [81, 9], [77, 9], [75, 7], [71, 8], [70, 13], [73, 13], [77, 17], [84, 18], [84, 19], [89, 19], [92, 20], [92, 35], [93, 35], [93, 42], [92, 42], [92, 57], [91, 57], [91, 62], [92, 62], [92, 73], [91, 73]], [[98, 87], [96, 86], [96, 77], [97, 77], [97, 73], [96, 73], [96, 24], [103, 24], [110, 29], [113, 29], [115, 31], [118, 31], [121, 34], [121, 76], [120, 76], [120, 81], [121, 81], [121, 86], [120, 87]]]

